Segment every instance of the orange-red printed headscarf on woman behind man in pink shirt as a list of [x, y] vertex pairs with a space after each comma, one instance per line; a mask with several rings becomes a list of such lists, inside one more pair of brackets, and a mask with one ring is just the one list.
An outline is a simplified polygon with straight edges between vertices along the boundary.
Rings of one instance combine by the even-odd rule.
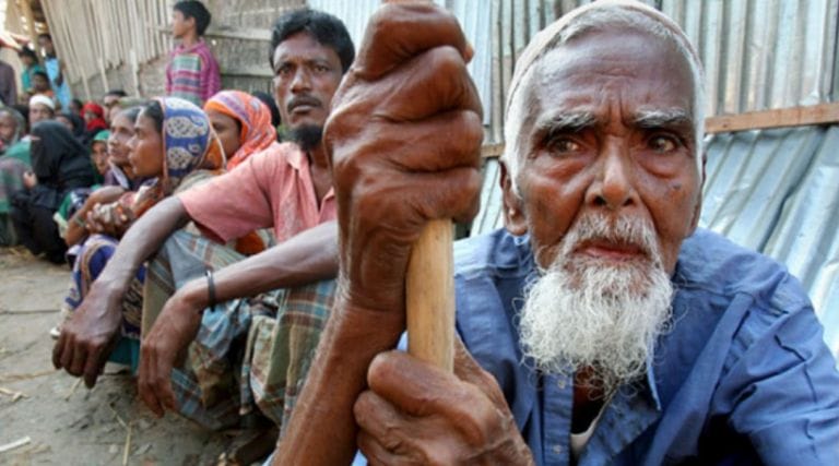
[[218, 111], [241, 126], [241, 146], [235, 154], [228, 154], [228, 170], [276, 141], [276, 130], [271, 124], [271, 110], [259, 98], [248, 93], [222, 91], [204, 104], [204, 110]]

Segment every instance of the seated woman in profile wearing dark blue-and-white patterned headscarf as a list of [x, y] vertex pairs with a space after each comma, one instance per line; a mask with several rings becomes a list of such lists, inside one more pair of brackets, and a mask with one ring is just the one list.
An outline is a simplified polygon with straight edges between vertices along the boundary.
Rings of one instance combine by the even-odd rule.
[[[114, 254], [118, 240], [131, 223], [154, 204], [173, 193], [221, 172], [224, 154], [210, 120], [196, 105], [167, 97], [143, 108], [129, 141], [129, 159], [138, 177], [153, 180], [137, 192], [128, 192], [119, 201], [97, 207], [88, 222], [121, 225], [93, 235], [84, 243], [73, 266], [73, 282], [64, 300], [64, 311], [72, 314], [81, 304], [93, 282]], [[137, 368], [139, 358], [142, 287], [145, 270], [141, 268], [122, 303], [121, 338], [110, 360]]]

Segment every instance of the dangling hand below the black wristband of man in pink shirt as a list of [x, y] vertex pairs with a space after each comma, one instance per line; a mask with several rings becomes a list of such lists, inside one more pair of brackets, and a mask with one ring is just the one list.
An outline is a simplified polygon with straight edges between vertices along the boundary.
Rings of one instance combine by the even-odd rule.
[[201, 325], [201, 308], [190, 303], [186, 289], [181, 288], [166, 301], [140, 345], [140, 397], [158, 417], [165, 409], [177, 409], [172, 391], [172, 369], [185, 359]]

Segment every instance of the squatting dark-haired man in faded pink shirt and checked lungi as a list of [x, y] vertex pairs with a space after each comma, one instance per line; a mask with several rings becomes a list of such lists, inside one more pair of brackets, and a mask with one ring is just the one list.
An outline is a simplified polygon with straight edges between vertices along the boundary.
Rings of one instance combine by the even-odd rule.
[[[169, 278], [178, 289], [165, 301], [151, 328], [149, 312], [144, 312], [140, 395], [158, 416], [165, 409], [177, 409], [212, 428], [240, 421], [238, 406], [218, 408], [216, 404], [229, 404], [229, 399], [236, 397], [245, 404], [251, 395], [235, 393], [239, 389], [235, 383], [228, 391], [233, 393], [220, 394], [202, 383], [201, 374], [173, 370], [181, 366], [176, 360], [178, 356], [185, 354], [198, 336], [196, 344], [212, 343], [198, 347], [193, 344], [190, 353], [198, 351], [205, 365], [210, 359], [217, 362], [214, 369], [223, 367], [223, 371], [231, 372], [235, 362], [227, 360], [227, 349], [243, 339], [264, 337], [264, 333], [252, 336], [255, 332], [248, 328], [249, 323], [259, 319], [251, 318], [277, 313], [276, 319], [281, 320], [282, 308], [277, 310], [276, 303], [292, 298], [279, 288], [334, 278], [338, 271], [335, 198], [320, 138], [332, 95], [354, 59], [353, 44], [340, 20], [321, 12], [298, 10], [277, 21], [272, 47], [274, 96], [296, 143], [253, 154], [234, 170], [161, 202], [128, 230], [115, 260], [94, 283], [72, 320], [64, 324], [54, 350], [55, 366], [76, 377], [83, 374], [87, 386], [95, 384], [107, 358], [108, 345], [120, 323], [119, 302], [134, 272], [157, 251], [161, 251], [158, 259], [165, 255], [163, 262], [172, 266]], [[175, 232], [190, 220], [205, 237]], [[260, 228], [273, 228], [277, 244], [247, 259], [221, 244]], [[213, 268], [218, 265], [227, 266], [214, 274]], [[154, 267], [152, 263], [150, 270]], [[149, 282], [154, 279], [146, 278]], [[333, 287], [330, 280], [314, 285], [310, 290], [320, 300], [311, 304], [323, 309], [323, 313], [331, 303]], [[253, 296], [257, 297], [248, 298]], [[149, 301], [146, 292], [146, 311], [154, 307]], [[251, 315], [243, 308], [271, 310]], [[203, 313], [202, 323], [204, 309], [211, 311]], [[322, 321], [305, 322], [304, 326], [314, 327], [304, 332], [319, 335]], [[286, 324], [287, 320], [277, 323]], [[218, 340], [223, 344], [218, 345]], [[316, 344], [314, 338], [306, 345], [314, 348]], [[232, 380], [229, 375], [227, 379]], [[295, 378], [302, 381], [303, 371]], [[296, 389], [292, 385], [289, 391], [296, 392]], [[260, 404], [260, 396], [270, 395], [265, 392], [271, 390], [259, 386], [258, 392], [257, 399], [250, 401], [272, 420], [282, 422], [283, 405], [293, 399], [272, 398]], [[280, 387], [279, 392], [282, 396], [286, 390]]]

